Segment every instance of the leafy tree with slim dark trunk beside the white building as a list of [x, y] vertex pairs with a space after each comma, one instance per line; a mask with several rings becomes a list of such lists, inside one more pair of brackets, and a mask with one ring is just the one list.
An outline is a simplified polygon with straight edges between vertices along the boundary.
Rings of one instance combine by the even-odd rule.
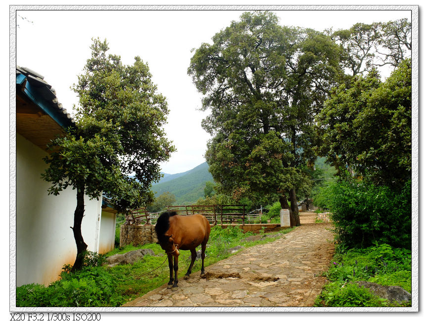
[[133, 65], [123, 65], [120, 56], [106, 54], [106, 41], [93, 42], [91, 58], [72, 87], [79, 97], [76, 128], [51, 143], [43, 173], [52, 183], [49, 194], [69, 186], [76, 190], [73, 270], [82, 267], [87, 249], [81, 233], [84, 196], [98, 199], [103, 193], [120, 212], [149, 203], [150, 183], [161, 176], [159, 163], [174, 151], [162, 129], [166, 99], [156, 93], [147, 64], [135, 57]]

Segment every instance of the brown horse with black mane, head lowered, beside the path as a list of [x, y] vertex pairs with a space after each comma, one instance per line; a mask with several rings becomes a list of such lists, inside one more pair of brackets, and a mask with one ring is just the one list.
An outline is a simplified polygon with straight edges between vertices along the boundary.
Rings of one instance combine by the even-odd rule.
[[[208, 242], [210, 225], [203, 215], [177, 215], [176, 212], [165, 212], [159, 216], [154, 227], [159, 245], [168, 255], [169, 264], [169, 282], [168, 288], [172, 287], [173, 291], [178, 289], [178, 257], [180, 249], [190, 250], [191, 262], [184, 279], [188, 279], [191, 268], [196, 259], [196, 247], [201, 245], [202, 268], [200, 274], [204, 274], [203, 261], [205, 258], [205, 248]], [[174, 266], [173, 266], [174, 258]], [[172, 270], [174, 268], [174, 278]], [[173, 284], [174, 281], [174, 284]]]

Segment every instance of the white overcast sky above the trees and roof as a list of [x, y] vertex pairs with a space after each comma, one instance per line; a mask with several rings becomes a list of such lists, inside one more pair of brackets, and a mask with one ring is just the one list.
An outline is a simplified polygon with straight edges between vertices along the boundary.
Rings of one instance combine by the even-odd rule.
[[[276, 7], [279, 8], [279, 7]], [[343, 7], [342, 7], [343, 9]], [[357, 22], [400, 18], [410, 10], [273, 10], [280, 24], [319, 31], [347, 29]], [[238, 20], [235, 10], [19, 10], [16, 64], [45, 76], [60, 103], [72, 112], [78, 99], [70, 86], [90, 57], [91, 38], [107, 39], [111, 54], [126, 64], [148, 63], [152, 80], [168, 101], [165, 131], [177, 148], [162, 171], [178, 173], [204, 162], [209, 135], [201, 128], [207, 112], [187, 74], [191, 49], [211, 43], [215, 33]], [[24, 18], [24, 19], [23, 19]]]

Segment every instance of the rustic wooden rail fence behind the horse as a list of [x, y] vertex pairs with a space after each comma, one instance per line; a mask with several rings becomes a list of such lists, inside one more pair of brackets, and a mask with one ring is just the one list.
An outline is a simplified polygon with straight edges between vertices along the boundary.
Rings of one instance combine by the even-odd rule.
[[[211, 225], [261, 223], [261, 211], [247, 214], [245, 205], [187, 205], [167, 206], [168, 211], [179, 215], [204, 215]], [[153, 225], [160, 213], [148, 213], [145, 208], [133, 210], [126, 215], [125, 225]]]

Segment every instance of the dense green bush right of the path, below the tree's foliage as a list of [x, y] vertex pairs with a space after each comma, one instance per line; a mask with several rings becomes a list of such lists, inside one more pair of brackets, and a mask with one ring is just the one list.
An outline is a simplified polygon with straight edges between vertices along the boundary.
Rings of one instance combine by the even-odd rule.
[[332, 213], [336, 240], [341, 247], [368, 247], [385, 243], [410, 249], [410, 180], [396, 191], [364, 180], [336, 180], [322, 189], [320, 194], [316, 201]]

